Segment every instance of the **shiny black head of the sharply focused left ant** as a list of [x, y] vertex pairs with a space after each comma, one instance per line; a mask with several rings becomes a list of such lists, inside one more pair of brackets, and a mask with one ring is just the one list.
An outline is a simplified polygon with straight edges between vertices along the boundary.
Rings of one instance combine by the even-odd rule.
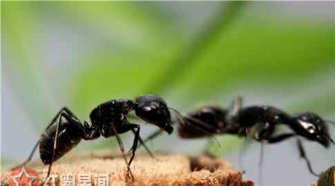
[[173, 132], [171, 114], [164, 99], [154, 95], [139, 96], [135, 99], [135, 113], [142, 120], [157, 125], [167, 133]]

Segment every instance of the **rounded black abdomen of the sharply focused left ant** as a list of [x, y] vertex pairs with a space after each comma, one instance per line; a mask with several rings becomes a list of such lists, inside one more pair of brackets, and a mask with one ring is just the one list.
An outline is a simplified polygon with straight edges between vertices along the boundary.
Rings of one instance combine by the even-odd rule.
[[62, 122], [59, 126], [59, 136], [55, 149], [54, 158], [52, 152], [55, 143], [57, 125], [51, 125], [39, 139], [39, 156], [44, 164], [50, 164], [57, 161], [67, 152], [73, 149], [82, 140], [82, 132], [75, 129], [73, 125], [68, 125], [68, 122]]

